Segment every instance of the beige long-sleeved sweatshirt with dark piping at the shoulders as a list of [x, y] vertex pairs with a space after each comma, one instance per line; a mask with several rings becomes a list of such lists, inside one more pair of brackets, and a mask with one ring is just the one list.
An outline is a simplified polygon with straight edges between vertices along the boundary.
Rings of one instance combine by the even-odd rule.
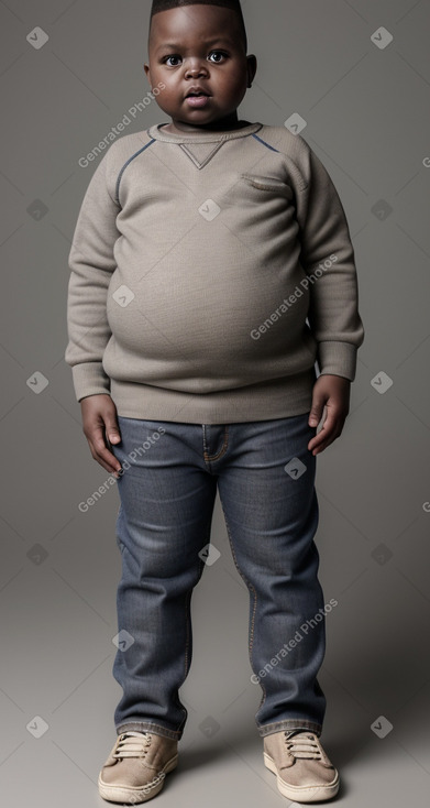
[[316, 362], [353, 381], [364, 337], [354, 250], [327, 170], [300, 135], [241, 129], [115, 141], [69, 255], [78, 401], [184, 423], [310, 410]]

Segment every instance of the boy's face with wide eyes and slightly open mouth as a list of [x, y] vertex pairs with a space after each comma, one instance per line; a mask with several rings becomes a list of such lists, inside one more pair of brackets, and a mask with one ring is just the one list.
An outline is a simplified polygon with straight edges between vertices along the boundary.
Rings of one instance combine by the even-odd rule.
[[172, 132], [232, 129], [256, 70], [246, 56], [238, 15], [219, 6], [191, 4], [154, 14], [144, 69]]

